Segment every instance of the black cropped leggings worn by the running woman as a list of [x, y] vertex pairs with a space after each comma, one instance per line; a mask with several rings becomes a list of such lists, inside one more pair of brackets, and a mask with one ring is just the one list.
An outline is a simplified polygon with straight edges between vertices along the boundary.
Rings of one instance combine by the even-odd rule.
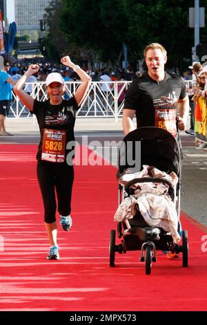
[[46, 223], [55, 222], [56, 210], [58, 210], [61, 216], [68, 216], [71, 211], [70, 202], [74, 179], [73, 166], [38, 161], [37, 178], [45, 210], [44, 221]]

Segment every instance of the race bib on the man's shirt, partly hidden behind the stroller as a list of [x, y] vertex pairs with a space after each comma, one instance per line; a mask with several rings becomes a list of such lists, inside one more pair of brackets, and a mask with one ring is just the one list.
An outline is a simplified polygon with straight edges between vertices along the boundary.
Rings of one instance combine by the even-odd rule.
[[172, 134], [176, 138], [176, 111], [175, 109], [156, 109], [155, 110], [155, 127], [160, 127]]

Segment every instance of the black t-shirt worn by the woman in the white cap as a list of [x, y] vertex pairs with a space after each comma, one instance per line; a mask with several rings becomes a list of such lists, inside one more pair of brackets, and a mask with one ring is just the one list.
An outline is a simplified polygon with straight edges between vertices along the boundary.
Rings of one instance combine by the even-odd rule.
[[[49, 100], [46, 102], [34, 100], [32, 113], [37, 116], [37, 122], [39, 124], [39, 131], [41, 135], [37, 152], [37, 160], [41, 160], [43, 129], [66, 130], [66, 145], [69, 141], [75, 140], [75, 115], [78, 109], [79, 106], [75, 100], [75, 97], [71, 97], [70, 100], [62, 100], [61, 104], [59, 105], [52, 105], [50, 104]], [[70, 150], [66, 149], [66, 156], [68, 152], [70, 152]]]

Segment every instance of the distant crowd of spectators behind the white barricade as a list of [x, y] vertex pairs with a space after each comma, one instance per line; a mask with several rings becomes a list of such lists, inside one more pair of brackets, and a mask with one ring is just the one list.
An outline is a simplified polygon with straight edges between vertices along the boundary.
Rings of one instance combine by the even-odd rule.
[[[70, 69], [68, 66], [63, 66], [61, 64], [55, 64], [49, 62], [45, 58], [39, 58], [39, 57], [34, 57], [32, 59], [24, 58], [19, 61], [17, 61], [15, 64], [10, 66], [9, 62], [7, 62], [7, 72], [10, 75], [11, 79], [14, 80], [14, 82], [17, 82], [21, 75], [27, 71], [28, 66], [30, 64], [38, 64], [40, 66], [40, 69], [36, 75], [32, 75], [30, 78], [28, 78], [27, 82], [28, 84], [26, 85], [26, 92], [32, 95], [32, 82], [43, 82], [46, 80], [46, 77], [48, 76], [49, 73], [51, 72], [58, 72], [61, 73], [63, 79], [66, 82], [76, 82], [79, 81], [79, 76], [75, 71]], [[126, 71], [124, 68], [108, 68], [103, 66], [103, 68], [86, 68], [84, 66], [81, 66], [84, 71], [90, 75], [92, 78], [92, 82], [100, 82], [100, 89], [101, 92], [103, 93], [103, 97], [106, 98], [108, 104], [104, 102], [104, 99], [101, 97], [101, 100], [103, 100], [103, 109], [108, 110], [107, 107], [110, 105], [110, 100], [111, 100], [111, 92], [113, 91], [114, 84], [110, 82], [119, 82], [117, 84], [117, 91], [119, 93], [118, 95], [118, 104], [121, 104], [124, 101], [125, 93], [126, 93], [126, 87], [124, 82], [125, 81], [132, 81], [136, 77], [139, 77], [141, 73], [137, 71], [133, 71], [131, 66], [128, 66]], [[101, 83], [103, 82], [103, 83]], [[123, 83], [121, 83], [123, 82]], [[43, 86], [44, 89], [44, 86]], [[93, 96], [92, 91], [90, 92], [90, 97]], [[68, 93], [65, 93], [64, 95], [65, 99], [69, 98]]]

